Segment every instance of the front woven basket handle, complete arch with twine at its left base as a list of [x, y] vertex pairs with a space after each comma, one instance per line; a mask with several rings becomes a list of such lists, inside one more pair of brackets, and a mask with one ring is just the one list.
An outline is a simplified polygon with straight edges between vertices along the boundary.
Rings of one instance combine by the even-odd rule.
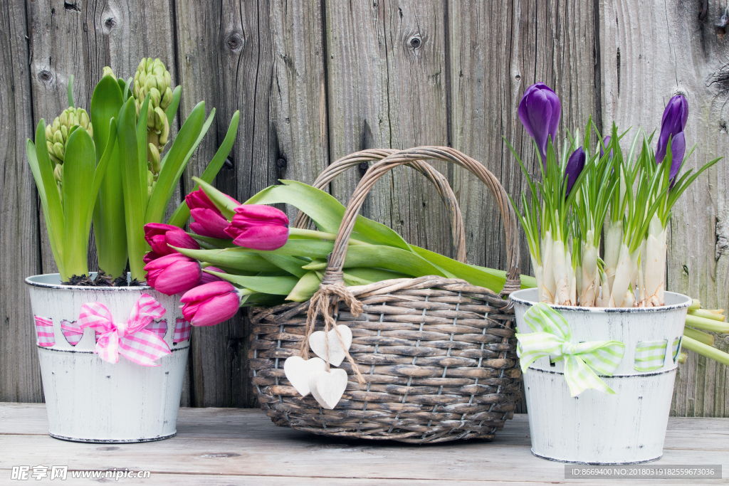
[[324, 275], [324, 279], [321, 281], [322, 285], [331, 283], [337, 283], [343, 281], [342, 269], [344, 265], [344, 259], [347, 254], [347, 244], [349, 237], [354, 229], [354, 222], [356, 216], [359, 213], [359, 209], [362, 208], [364, 198], [370, 189], [375, 185], [385, 173], [390, 171], [397, 165], [407, 164], [416, 160], [442, 160], [443, 162], [451, 162], [471, 171], [480, 179], [488, 189], [491, 190], [491, 195], [494, 196], [496, 204], [499, 205], [499, 212], [502, 215], [504, 221], [504, 232], [506, 232], [507, 239], [507, 280], [504, 283], [504, 289], [502, 295], [510, 294], [512, 291], [516, 291], [520, 288], [521, 283], [519, 281], [519, 240], [518, 240], [518, 228], [516, 222], [516, 215], [509, 203], [509, 197], [507, 196], [506, 190], [496, 179], [491, 171], [488, 171], [486, 167], [480, 162], [468, 157], [466, 154], [459, 152], [456, 149], [445, 146], [421, 146], [414, 149], [401, 150], [389, 154], [383, 158], [380, 162], [375, 163], [367, 173], [364, 174], [362, 180], [359, 181], [354, 193], [352, 194], [347, 210], [344, 213], [342, 224], [339, 227], [337, 239], [334, 243], [334, 250], [330, 255], [329, 264], [327, 266], [327, 273]]

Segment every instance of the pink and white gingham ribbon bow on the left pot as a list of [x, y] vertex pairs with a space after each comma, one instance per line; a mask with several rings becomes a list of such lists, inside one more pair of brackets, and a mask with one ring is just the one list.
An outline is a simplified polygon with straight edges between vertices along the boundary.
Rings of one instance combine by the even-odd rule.
[[79, 328], [90, 327], [96, 334], [94, 350], [98, 356], [109, 363], [117, 363], [119, 355], [145, 367], [158, 367], [155, 361], [171, 354], [167, 342], [147, 329], [149, 323], [165, 315], [165, 308], [154, 297], [144, 294], [134, 304], [132, 313], [123, 324], [114, 324], [112, 313], [98, 302], [81, 306]]

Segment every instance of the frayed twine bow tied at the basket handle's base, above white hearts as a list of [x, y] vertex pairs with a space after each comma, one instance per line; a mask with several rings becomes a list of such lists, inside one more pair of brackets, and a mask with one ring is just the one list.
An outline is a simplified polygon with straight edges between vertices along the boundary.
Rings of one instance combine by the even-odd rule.
[[[337, 279], [337, 275], [339, 275], [340, 278]], [[338, 308], [339, 302], [344, 302], [355, 317], [362, 313], [362, 302], [359, 302], [359, 300], [357, 300], [356, 297], [347, 290], [344, 285], [344, 281], [341, 279], [341, 275], [341, 272], [332, 273], [327, 269], [327, 275], [324, 275], [324, 279], [321, 281], [319, 290], [316, 291], [316, 294], [314, 294], [313, 297], [311, 297], [309, 309], [306, 314], [305, 337], [301, 342], [300, 355], [304, 359], [309, 358], [309, 337], [311, 337], [311, 333], [314, 331], [316, 316], [321, 314], [324, 317], [324, 343], [327, 346], [327, 371], [330, 369], [329, 331], [330, 328], [332, 328], [337, 333], [339, 343], [344, 350], [344, 355], [346, 356], [347, 361], [349, 361], [349, 364], [352, 365], [357, 382], [359, 382], [360, 385], [364, 385], [364, 377], [362, 377], [362, 373], [359, 372], [359, 367], [354, 364], [354, 359], [352, 359], [352, 356], [349, 354], [349, 351], [344, 345], [342, 334], [339, 332], [339, 329], [337, 329], [337, 323], [332, 317], [332, 314]]]

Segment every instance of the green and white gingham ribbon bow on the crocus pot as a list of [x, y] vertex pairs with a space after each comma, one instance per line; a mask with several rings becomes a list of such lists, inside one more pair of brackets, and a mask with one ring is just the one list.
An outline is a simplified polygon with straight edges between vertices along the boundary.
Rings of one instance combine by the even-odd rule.
[[522, 372], [526, 373], [529, 365], [537, 359], [554, 356], [554, 361], [564, 359], [564, 379], [571, 396], [577, 396], [588, 388], [615, 393], [595, 372], [605, 376], [615, 373], [623, 359], [625, 345], [622, 342], [570, 342], [572, 332], [569, 324], [544, 302], [532, 305], [524, 314], [524, 321], [534, 332], [516, 334]]

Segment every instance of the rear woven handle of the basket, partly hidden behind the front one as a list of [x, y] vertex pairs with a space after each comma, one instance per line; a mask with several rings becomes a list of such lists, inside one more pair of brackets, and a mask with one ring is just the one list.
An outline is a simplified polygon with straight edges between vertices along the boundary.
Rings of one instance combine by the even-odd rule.
[[[316, 181], [312, 184], [316, 189], [324, 189], [330, 184], [338, 175], [347, 171], [362, 162], [370, 162], [371, 160], [379, 161], [385, 157], [398, 152], [395, 149], [369, 149], [362, 150], [360, 152], [354, 152], [354, 154], [348, 154], [345, 157], [340, 158], [336, 162], [329, 165], [324, 171], [319, 173]], [[415, 169], [419, 173], [426, 176], [431, 181], [435, 189], [443, 199], [445, 208], [448, 211], [448, 218], [451, 221], [451, 236], [453, 237], [453, 248], [456, 249], [456, 260], [459, 262], [466, 262], [466, 230], [464, 229], [463, 216], [461, 215], [461, 208], [459, 208], [458, 200], [456, 195], [453, 194], [451, 184], [448, 183], [448, 179], [445, 179], [442, 173], [436, 171], [432, 165], [424, 160], [413, 160], [405, 162], [405, 165]], [[311, 218], [306, 216], [303, 211], [299, 211], [294, 227], [305, 229], [311, 223]]]

